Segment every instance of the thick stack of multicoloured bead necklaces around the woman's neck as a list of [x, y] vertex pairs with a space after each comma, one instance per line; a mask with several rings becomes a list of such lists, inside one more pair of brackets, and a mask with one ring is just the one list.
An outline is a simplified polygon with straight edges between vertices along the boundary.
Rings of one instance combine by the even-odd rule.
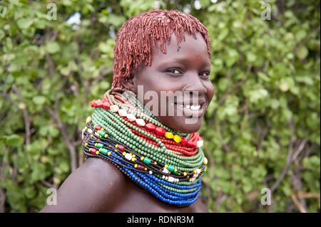
[[129, 91], [108, 90], [91, 107], [82, 131], [86, 158], [108, 160], [165, 203], [188, 206], [198, 199], [208, 163], [198, 132], [163, 125]]

